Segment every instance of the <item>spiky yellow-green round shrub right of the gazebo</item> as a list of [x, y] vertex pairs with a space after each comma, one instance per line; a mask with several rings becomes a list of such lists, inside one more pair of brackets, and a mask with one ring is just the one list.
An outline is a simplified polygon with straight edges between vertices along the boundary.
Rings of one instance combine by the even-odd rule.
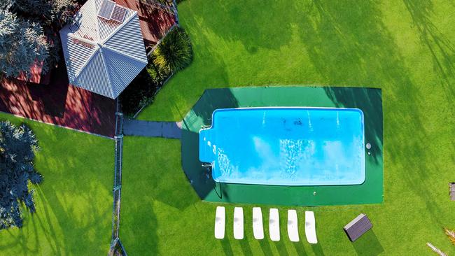
[[193, 50], [188, 34], [176, 27], [162, 39], [153, 51], [153, 64], [158, 66], [162, 73], [179, 71], [188, 66], [193, 60]]

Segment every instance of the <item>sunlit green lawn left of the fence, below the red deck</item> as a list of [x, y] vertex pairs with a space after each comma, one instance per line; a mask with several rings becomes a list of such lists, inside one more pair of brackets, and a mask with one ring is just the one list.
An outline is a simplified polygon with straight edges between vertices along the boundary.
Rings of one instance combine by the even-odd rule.
[[113, 141], [0, 113], [26, 122], [39, 140], [36, 213], [21, 229], [0, 230], [0, 255], [106, 255], [111, 241]]

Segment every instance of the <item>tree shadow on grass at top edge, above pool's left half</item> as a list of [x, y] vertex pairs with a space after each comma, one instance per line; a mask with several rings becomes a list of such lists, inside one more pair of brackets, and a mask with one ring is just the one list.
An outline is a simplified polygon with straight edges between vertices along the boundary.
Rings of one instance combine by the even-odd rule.
[[[286, 16], [276, 13], [289, 13], [292, 1], [242, 1], [218, 0], [207, 8], [190, 7], [190, 20], [186, 23], [203, 22], [202, 26], [228, 43], [240, 41], [250, 54], [259, 48], [279, 49], [291, 40], [291, 26]], [[265, 25], [264, 22], [270, 24]]]

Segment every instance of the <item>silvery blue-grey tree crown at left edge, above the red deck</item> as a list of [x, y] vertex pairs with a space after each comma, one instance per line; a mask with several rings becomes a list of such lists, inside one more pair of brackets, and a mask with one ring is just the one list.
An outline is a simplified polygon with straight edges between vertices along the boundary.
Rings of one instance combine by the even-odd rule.
[[6, 76], [19, 76], [21, 71], [29, 71], [34, 62], [43, 62], [43, 71], [48, 71], [48, 48], [39, 24], [0, 10], [0, 71]]

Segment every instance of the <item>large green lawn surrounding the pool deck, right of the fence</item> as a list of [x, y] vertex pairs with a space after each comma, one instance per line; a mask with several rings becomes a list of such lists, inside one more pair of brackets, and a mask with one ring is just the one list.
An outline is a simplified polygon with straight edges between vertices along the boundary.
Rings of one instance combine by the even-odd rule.
[[[195, 59], [160, 91], [141, 120], [181, 120], [204, 89], [246, 85], [380, 87], [384, 111], [384, 203], [311, 208], [320, 243], [251, 234], [214, 239], [216, 206], [202, 202], [181, 169], [179, 141], [125, 138], [120, 237], [129, 255], [449, 254], [455, 229], [455, 5], [453, 1], [186, 0], [182, 26]], [[302, 96], [304, 97], [304, 95]], [[262, 206], [267, 213], [269, 206]], [[286, 217], [286, 207], [279, 207]], [[302, 211], [300, 213], [301, 239]], [[367, 213], [373, 231], [350, 243], [342, 227]], [[267, 222], [267, 214], [265, 214]], [[265, 225], [267, 232], [267, 225]], [[266, 233], [267, 234], [267, 233]]]

